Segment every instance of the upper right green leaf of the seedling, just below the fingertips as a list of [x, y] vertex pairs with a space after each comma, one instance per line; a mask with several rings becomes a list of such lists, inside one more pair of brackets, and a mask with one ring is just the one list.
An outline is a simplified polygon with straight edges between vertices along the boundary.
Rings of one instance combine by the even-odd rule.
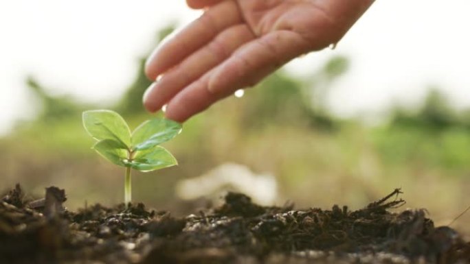
[[174, 138], [181, 124], [168, 119], [147, 120], [132, 133], [133, 150], [150, 149]]

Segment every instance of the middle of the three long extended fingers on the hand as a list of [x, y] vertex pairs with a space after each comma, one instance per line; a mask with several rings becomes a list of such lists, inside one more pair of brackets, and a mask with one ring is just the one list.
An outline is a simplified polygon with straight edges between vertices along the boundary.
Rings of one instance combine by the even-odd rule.
[[234, 25], [225, 29], [208, 45], [167, 71], [158, 82], [151, 84], [144, 95], [145, 108], [150, 112], [159, 110], [181, 89], [229, 58], [238, 47], [253, 39], [254, 35], [247, 25]]

